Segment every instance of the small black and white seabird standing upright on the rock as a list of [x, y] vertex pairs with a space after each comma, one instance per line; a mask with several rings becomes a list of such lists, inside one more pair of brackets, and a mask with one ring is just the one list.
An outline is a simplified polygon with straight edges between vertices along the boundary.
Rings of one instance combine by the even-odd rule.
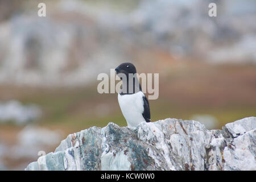
[[[118, 102], [127, 126], [136, 127], [141, 122], [150, 122], [149, 103], [147, 97], [142, 93], [137, 76], [134, 75], [136, 73], [134, 65], [122, 63], [115, 68], [115, 71], [122, 80], [122, 88], [118, 93]], [[121, 73], [126, 76], [126, 79], [123, 79]], [[129, 75], [133, 75], [130, 80]], [[131, 88], [131, 86], [133, 87]]]

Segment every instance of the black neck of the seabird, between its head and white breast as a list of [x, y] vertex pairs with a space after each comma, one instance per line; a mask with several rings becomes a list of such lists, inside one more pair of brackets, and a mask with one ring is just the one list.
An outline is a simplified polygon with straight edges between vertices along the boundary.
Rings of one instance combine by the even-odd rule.
[[122, 80], [122, 88], [120, 90], [121, 95], [125, 94], [134, 94], [141, 91], [141, 84], [139, 84], [139, 80], [137, 77], [133, 77], [131, 79]]

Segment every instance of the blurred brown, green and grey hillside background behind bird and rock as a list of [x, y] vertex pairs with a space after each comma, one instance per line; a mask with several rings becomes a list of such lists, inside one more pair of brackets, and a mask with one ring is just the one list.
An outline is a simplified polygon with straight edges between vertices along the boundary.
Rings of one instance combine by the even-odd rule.
[[0, 169], [88, 127], [126, 126], [117, 94], [97, 92], [97, 75], [124, 61], [159, 73], [152, 121], [221, 129], [256, 116], [255, 22], [254, 0], [0, 0]]

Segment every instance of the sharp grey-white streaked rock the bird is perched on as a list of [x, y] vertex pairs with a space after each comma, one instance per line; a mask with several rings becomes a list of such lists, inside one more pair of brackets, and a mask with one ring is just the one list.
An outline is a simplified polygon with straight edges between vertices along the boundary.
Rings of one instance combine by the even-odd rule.
[[64, 139], [26, 170], [256, 170], [256, 117], [207, 130], [164, 119], [135, 128], [90, 127]]

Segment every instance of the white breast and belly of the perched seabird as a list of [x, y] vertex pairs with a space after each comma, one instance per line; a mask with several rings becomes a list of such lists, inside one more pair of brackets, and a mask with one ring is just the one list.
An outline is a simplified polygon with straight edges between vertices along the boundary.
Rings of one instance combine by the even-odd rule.
[[146, 122], [143, 118], [144, 94], [137, 92], [134, 94], [118, 94], [118, 102], [129, 127], [136, 127], [141, 122]]

